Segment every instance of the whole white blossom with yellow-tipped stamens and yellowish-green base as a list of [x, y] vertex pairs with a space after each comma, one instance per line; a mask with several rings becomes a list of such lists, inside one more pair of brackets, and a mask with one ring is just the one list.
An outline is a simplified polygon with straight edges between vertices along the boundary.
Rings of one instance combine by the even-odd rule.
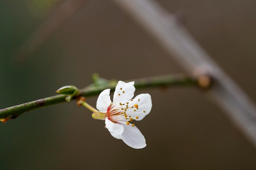
[[134, 92], [134, 82], [119, 81], [112, 103], [110, 89], [102, 91], [96, 106], [99, 112], [94, 112], [92, 117], [105, 119], [106, 128], [113, 137], [122, 139], [132, 148], [140, 149], [146, 146], [146, 140], [130, 121], [143, 119], [150, 112], [152, 101], [149, 94], [140, 94], [132, 99]]

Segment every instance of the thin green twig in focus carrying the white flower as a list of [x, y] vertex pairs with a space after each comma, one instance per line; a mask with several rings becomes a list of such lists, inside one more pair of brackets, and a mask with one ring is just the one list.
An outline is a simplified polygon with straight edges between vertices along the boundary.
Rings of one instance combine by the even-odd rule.
[[[115, 80], [103, 80], [99, 79], [101, 82], [95, 82], [90, 86], [80, 90], [79, 96], [90, 97], [94, 95], [99, 95], [101, 91], [110, 88], [115, 89], [117, 81]], [[125, 82], [135, 81], [135, 88], [148, 88], [148, 87], [167, 87], [167, 86], [198, 86], [198, 81], [186, 75], [165, 75], [156, 77], [147, 77], [140, 79], [127, 80]], [[67, 102], [65, 100], [65, 95], [55, 95], [52, 97], [46, 97], [44, 99], [38, 99], [33, 102], [28, 102], [9, 108], [4, 108], [0, 110], [0, 121], [5, 122], [9, 119], [16, 119], [23, 113], [29, 112], [31, 110], [36, 110], [39, 108], [51, 106], [54, 104], [59, 104]], [[72, 99], [76, 99], [76, 96]]]

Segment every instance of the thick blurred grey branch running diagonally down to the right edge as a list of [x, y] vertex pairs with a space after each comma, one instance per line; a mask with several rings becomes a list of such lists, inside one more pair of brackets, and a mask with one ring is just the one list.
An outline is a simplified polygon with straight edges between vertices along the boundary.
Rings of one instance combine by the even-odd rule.
[[192, 76], [209, 75], [216, 82], [209, 96], [227, 111], [236, 126], [256, 147], [256, 108], [247, 95], [180, 25], [154, 0], [112, 0], [120, 5]]

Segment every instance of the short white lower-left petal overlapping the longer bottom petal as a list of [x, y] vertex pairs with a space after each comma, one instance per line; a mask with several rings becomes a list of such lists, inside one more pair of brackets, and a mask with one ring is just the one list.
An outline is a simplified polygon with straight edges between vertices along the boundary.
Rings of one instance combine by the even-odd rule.
[[105, 124], [106, 124], [106, 128], [108, 129], [108, 131], [110, 132], [110, 134], [117, 138], [117, 139], [122, 139], [122, 133], [124, 132], [124, 126], [118, 123], [114, 123], [111, 120], [108, 119], [108, 117], [106, 117], [105, 119]]

